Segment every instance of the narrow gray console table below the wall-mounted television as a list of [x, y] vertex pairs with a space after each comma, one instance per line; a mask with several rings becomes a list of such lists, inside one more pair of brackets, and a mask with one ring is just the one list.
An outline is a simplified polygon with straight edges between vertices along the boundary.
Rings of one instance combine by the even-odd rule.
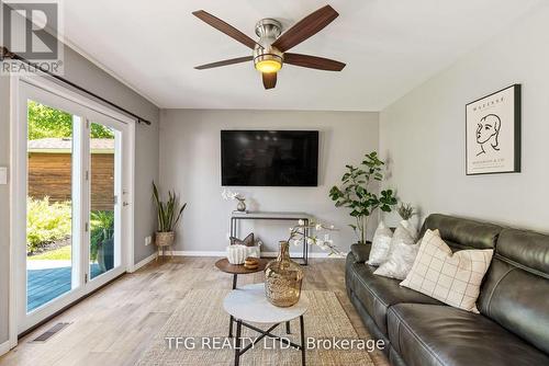
[[[231, 215], [231, 236], [238, 238], [238, 220], [272, 220], [272, 221], [299, 221], [303, 220], [305, 225], [309, 225], [311, 216], [305, 213], [269, 213], [269, 211], [233, 211]], [[303, 229], [303, 254], [302, 256], [292, 256], [292, 260], [301, 260], [302, 265], [309, 264], [309, 245], [306, 237], [309, 236], [309, 229]]]

